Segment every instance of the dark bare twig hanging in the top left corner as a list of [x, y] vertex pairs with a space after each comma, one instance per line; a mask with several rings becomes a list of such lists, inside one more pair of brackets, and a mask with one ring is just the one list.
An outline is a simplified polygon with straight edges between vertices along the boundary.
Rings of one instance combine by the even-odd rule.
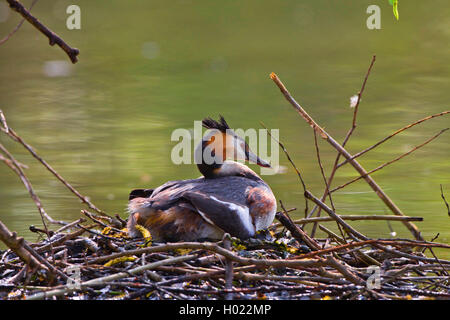
[[61, 49], [66, 52], [72, 63], [78, 61], [78, 54], [80, 51], [76, 48], [70, 47], [63, 39], [61, 39], [56, 33], [44, 26], [38, 19], [31, 15], [31, 13], [17, 0], [6, 0], [9, 3], [11, 9], [18, 12], [22, 17], [24, 17], [29, 23], [31, 23], [36, 29], [42, 32], [49, 40], [49, 44], [53, 46], [57, 44]]

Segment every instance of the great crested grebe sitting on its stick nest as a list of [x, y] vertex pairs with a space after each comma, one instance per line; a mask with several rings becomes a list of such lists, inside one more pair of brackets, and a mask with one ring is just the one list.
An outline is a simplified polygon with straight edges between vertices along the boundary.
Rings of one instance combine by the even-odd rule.
[[131, 191], [127, 223], [131, 237], [141, 236], [139, 224], [156, 241], [221, 239], [224, 233], [247, 239], [272, 223], [277, 206], [270, 187], [246, 165], [226, 159], [262, 167], [270, 167], [269, 163], [250, 151], [222, 116], [219, 121], [204, 119], [202, 125], [210, 129], [195, 150], [196, 155], [201, 152], [197, 166], [203, 176]]

